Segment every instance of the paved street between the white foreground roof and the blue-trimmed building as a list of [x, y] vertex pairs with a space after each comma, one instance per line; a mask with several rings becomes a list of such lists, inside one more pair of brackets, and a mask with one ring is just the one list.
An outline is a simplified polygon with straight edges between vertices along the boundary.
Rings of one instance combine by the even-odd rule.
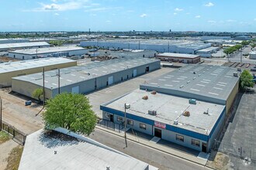
[[99, 130], [95, 128], [95, 131], [90, 135], [89, 138], [99, 141], [100, 143], [114, 148], [118, 151], [133, 156], [134, 158], [140, 159], [143, 162], [147, 162], [161, 170], [167, 169], [210, 169], [202, 165], [186, 161], [182, 158], [168, 155], [162, 151], [149, 148], [144, 145], [140, 145], [134, 141], [127, 141], [128, 148], [125, 148], [124, 138], [110, 134], [109, 132]]

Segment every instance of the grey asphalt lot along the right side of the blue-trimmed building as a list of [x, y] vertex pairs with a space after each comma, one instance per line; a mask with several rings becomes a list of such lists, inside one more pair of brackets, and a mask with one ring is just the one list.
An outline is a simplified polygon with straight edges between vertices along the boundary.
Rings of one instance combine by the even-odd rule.
[[224, 148], [224, 150], [233, 152], [234, 155], [251, 158], [251, 162], [244, 162], [243, 159], [230, 156], [230, 162], [234, 169], [256, 169], [255, 86], [253, 90], [238, 94], [237, 98], [240, 103], [234, 104], [234, 107], [237, 107], [236, 114], [231, 117], [220, 145], [220, 149]]

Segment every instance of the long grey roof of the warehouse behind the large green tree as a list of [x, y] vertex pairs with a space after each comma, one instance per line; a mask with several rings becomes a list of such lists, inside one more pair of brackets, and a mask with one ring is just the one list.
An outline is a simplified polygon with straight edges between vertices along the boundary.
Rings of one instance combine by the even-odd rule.
[[[90, 80], [95, 77], [105, 76], [110, 73], [116, 73], [122, 70], [130, 69], [136, 66], [143, 66], [147, 63], [159, 61], [158, 59], [148, 58], [121, 58], [110, 59], [102, 62], [88, 63], [83, 66], [71, 66], [61, 69], [61, 87]], [[89, 73], [89, 74], [88, 74]], [[12, 79], [27, 81], [42, 86], [42, 73], [34, 73], [26, 76], [17, 76]], [[51, 70], [45, 72], [45, 87], [49, 89], [57, 88], [57, 71]]]

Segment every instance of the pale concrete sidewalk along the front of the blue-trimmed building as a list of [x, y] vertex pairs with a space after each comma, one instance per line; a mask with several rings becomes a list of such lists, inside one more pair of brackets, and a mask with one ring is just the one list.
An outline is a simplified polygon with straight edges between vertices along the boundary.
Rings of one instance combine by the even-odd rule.
[[[118, 131], [112, 131], [110, 129], [103, 128], [99, 125], [96, 125], [96, 128], [98, 128], [99, 130], [102, 130], [102, 131], [106, 131], [111, 134], [116, 134], [116, 135], [124, 138], [124, 131], [121, 131], [119, 133]], [[196, 164], [203, 165], [203, 166], [205, 166], [207, 163], [207, 155], [206, 155], [206, 158], [205, 157], [201, 158], [200, 157], [201, 154], [191, 155], [191, 154], [185, 153], [184, 151], [178, 151], [175, 148], [170, 148], [168, 146], [160, 145], [160, 144], [157, 144], [155, 141], [148, 141], [144, 138], [140, 138], [140, 137], [137, 137], [136, 135], [132, 135], [129, 133], [126, 133], [126, 138], [128, 140], [140, 143], [141, 145], [146, 145], [147, 147], [154, 148], [159, 151], [163, 151], [164, 153], [168, 153], [170, 155], [175, 155], [178, 158], [183, 158], [189, 162], [194, 162]]]

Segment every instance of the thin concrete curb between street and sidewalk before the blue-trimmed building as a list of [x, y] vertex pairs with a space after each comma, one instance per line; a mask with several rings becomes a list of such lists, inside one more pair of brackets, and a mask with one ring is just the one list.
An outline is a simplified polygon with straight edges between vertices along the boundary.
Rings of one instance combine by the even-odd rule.
[[[106, 131], [105, 129], [99, 128], [99, 127], [97, 127], [97, 126], [96, 126], [95, 128], [97, 128], [97, 129], [99, 129], [99, 130], [101, 130], [101, 131]], [[116, 136], [119, 136], [119, 137], [122, 137], [122, 138], [123, 138], [123, 136], [121, 136], [121, 135], [119, 135], [119, 134], [116, 134], [116, 133], [112, 133], [111, 131], [106, 131], [106, 132], [109, 133], [109, 134], [114, 134], [114, 135], [116, 135]], [[135, 140], [130, 139], [130, 138], [127, 138], [127, 140], [136, 142], [136, 143], [138, 143], [138, 144], [140, 144], [140, 145], [145, 145], [145, 144], [143, 144], [143, 143], [140, 143], [139, 141], [135, 141]], [[193, 163], [195, 163], [195, 164], [197, 164], [197, 165], [202, 165], [202, 166], [204, 166], [204, 167], [211, 168], [211, 169], [214, 169], [214, 170], [215, 170], [215, 168], [209, 167], [209, 166], [207, 166], [207, 165], [200, 164], [199, 162], [194, 162], [194, 161], [192, 161], [192, 160], [190, 160], [190, 159], [188, 159], [188, 158], [183, 158], [183, 157], [181, 157], [181, 156], [179, 156], [179, 155], [174, 155], [174, 154], [172, 154], [172, 153], [170, 153], [170, 152], [163, 151], [163, 150], [161, 150], [161, 149], [159, 149], [159, 148], [155, 148], [155, 147], [152, 147], [152, 146], [150, 146], [150, 145], [145, 145], [145, 146], [147, 146], [148, 148], [154, 148], [154, 149], [156, 149], [157, 151], [162, 151], [162, 152], [164, 152], [165, 154], [168, 154], [168, 155], [173, 155], [173, 156], [175, 156], [175, 157], [185, 159], [186, 161], [193, 162]]]

